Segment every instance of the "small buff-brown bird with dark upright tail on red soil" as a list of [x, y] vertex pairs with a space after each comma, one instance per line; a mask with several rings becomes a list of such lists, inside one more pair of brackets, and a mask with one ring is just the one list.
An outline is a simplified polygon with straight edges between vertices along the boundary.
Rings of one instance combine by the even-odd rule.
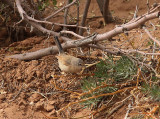
[[59, 68], [66, 73], [80, 73], [85, 67], [84, 62], [80, 58], [65, 54], [61, 43], [57, 36], [54, 36], [55, 43], [59, 49], [58, 59]]

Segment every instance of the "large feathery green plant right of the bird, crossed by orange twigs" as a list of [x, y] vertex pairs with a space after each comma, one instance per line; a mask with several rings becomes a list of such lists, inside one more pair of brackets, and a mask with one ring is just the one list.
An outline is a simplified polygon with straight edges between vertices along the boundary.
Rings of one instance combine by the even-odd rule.
[[[132, 79], [136, 74], [137, 69], [134, 63], [127, 57], [122, 56], [119, 60], [114, 61], [113, 57], [101, 61], [96, 66], [96, 71], [94, 72], [93, 77], [87, 77], [82, 81], [82, 90], [88, 92], [89, 90], [95, 89], [98, 86], [103, 84], [115, 84], [120, 81], [125, 81], [125, 79]], [[83, 98], [88, 98], [104, 93], [111, 93], [118, 90], [117, 87], [106, 86], [99, 88], [98, 90], [85, 95]], [[102, 100], [103, 97], [92, 99], [86, 102], [83, 102], [85, 106], [96, 106], [97, 102]]]

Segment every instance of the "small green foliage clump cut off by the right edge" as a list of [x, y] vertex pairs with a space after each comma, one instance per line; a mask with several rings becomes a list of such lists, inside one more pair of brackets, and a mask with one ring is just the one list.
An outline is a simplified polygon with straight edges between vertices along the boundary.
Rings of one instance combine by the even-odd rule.
[[147, 83], [142, 85], [142, 91], [149, 94], [154, 101], [160, 101], [160, 86], [158, 84], [152, 84], [151, 86]]

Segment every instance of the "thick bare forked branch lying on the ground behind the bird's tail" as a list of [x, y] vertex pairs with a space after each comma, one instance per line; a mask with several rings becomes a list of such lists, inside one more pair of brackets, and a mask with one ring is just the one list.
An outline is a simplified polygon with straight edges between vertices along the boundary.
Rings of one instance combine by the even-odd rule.
[[[20, 4], [20, 0], [15, 0], [16, 1], [16, 5], [18, 8], [18, 11], [22, 17], [22, 20], [25, 20], [26, 22], [30, 23], [33, 27], [39, 29], [40, 31], [42, 31], [45, 34], [49, 34], [49, 35], [56, 35], [59, 36], [60, 34], [51, 30], [48, 30], [44, 27], [42, 27], [40, 24], [38, 24], [37, 22], [35, 22], [34, 20], [32, 20], [33, 18], [29, 17], [26, 12], [23, 10], [21, 4]], [[157, 9], [160, 8], [160, 6], [157, 7]], [[155, 19], [155, 18], [159, 18], [160, 16], [160, 12], [150, 12], [148, 14], [142, 15], [141, 17], [136, 18], [134, 21], [132, 21], [131, 23], [126, 23], [123, 24], [121, 26], [117, 26], [116, 28], [114, 28], [113, 30], [103, 33], [103, 34], [93, 34], [89, 37], [85, 37], [83, 39], [78, 39], [78, 40], [71, 40], [69, 38], [66, 37], [61, 37], [63, 40], [65, 40], [66, 42], [62, 44], [62, 47], [64, 49], [68, 49], [68, 48], [75, 48], [75, 47], [79, 47], [79, 46], [83, 46], [83, 45], [87, 45], [90, 43], [95, 43], [98, 41], [102, 41], [102, 40], [108, 40], [111, 39], [112, 37], [123, 33], [124, 31], [129, 31], [135, 28], [138, 28], [139, 26], [143, 25], [146, 21], [151, 20], [151, 19]], [[53, 47], [49, 47], [49, 48], [45, 48], [45, 49], [41, 49], [35, 52], [30, 52], [30, 53], [25, 53], [25, 54], [17, 54], [17, 55], [11, 55], [9, 56], [9, 58], [16, 58], [16, 59], [20, 59], [20, 60], [32, 60], [32, 59], [38, 59], [41, 58], [43, 56], [46, 55], [50, 55], [50, 54], [56, 54], [58, 52], [57, 47], [53, 46]]]

